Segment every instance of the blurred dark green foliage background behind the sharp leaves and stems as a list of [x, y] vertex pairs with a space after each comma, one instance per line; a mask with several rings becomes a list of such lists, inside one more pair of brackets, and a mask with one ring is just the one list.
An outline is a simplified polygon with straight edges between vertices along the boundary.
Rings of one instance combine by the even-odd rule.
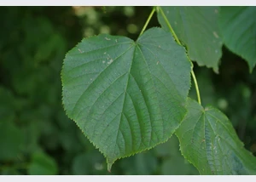
[[[151, 7], [0, 7], [1, 174], [198, 174], [173, 136], [150, 151], [121, 159], [108, 173], [102, 154], [61, 105], [67, 51], [99, 33], [137, 39]], [[156, 14], [148, 27], [160, 26]], [[219, 74], [195, 65], [203, 105], [230, 118], [256, 154], [256, 71], [223, 48]], [[190, 97], [196, 99], [194, 83]]]

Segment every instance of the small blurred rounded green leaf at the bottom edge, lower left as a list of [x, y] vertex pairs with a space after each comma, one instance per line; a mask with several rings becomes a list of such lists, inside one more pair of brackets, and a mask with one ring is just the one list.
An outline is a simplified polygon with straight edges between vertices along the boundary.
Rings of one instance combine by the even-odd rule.
[[53, 158], [42, 152], [33, 154], [32, 163], [28, 168], [30, 175], [55, 175], [57, 172], [57, 164]]

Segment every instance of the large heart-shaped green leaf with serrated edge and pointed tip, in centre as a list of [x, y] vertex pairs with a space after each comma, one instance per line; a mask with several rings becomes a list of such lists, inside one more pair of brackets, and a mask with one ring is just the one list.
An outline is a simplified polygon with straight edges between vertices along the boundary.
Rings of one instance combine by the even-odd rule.
[[110, 168], [171, 137], [186, 113], [190, 71], [185, 49], [160, 28], [145, 31], [137, 42], [90, 37], [64, 60], [64, 108]]

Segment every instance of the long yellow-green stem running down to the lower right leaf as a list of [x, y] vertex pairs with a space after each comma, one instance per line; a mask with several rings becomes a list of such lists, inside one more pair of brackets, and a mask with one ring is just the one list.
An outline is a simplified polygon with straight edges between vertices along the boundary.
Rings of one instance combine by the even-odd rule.
[[[164, 20], [166, 21], [166, 25], [168, 26], [168, 28], [170, 29], [170, 31], [172, 32], [172, 36], [174, 37], [174, 39], [176, 40], [176, 42], [182, 46], [182, 44], [180, 43], [180, 41], [178, 40], [177, 38], [177, 35], [175, 33], [175, 31], [173, 31], [172, 29], [172, 26], [170, 24], [170, 22], [167, 20], [167, 17], [166, 17], [166, 14], [163, 12], [163, 9], [161, 9], [161, 7], [157, 7], [157, 9], [159, 9], [160, 11], [160, 14], [163, 16]], [[189, 56], [187, 56], [188, 59], [189, 59]], [[189, 61], [191, 62], [191, 64], [193, 65], [192, 61], [189, 59]], [[196, 77], [195, 77], [195, 73], [193, 71], [193, 66], [192, 66], [192, 69], [191, 69], [191, 75], [193, 77], [193, 80], [195, 82], [195, 91], [196, 91], [196, 94], [197, 94], [197, 100], [198, 100], [198, 103], [201, 105], [201, 97], [200, 97], [200, 91], [199, 91], [199, 87], [198, 87], [198, 84], [197, 84], [197, 81], [196, 81]]]

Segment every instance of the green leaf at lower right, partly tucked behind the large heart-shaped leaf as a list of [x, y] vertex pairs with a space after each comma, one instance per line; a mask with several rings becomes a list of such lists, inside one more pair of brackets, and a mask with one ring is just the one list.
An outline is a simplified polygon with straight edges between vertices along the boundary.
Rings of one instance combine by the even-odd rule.
[[188, 100], [188, 114], [177, 129], [183, 156], [201, 174], [256, 174], [256, 157], [236, 135], [229, 119], [218, 109], [205, 109]]

